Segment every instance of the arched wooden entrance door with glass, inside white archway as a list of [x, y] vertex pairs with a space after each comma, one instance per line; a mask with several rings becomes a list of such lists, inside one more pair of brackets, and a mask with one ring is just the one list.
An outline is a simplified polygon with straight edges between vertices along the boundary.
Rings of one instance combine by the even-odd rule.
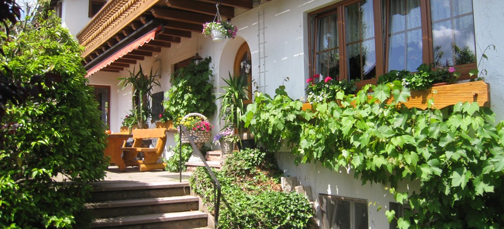
[[248, 100], [243, 101], [243, 104], [252, 103], [252, 61], [250, 59], [250, 48], [247, 42], [244, 42], [236, 52], [235, 64], [233, 67], [234, 76], [245, 77], [243, 80], [248, 82]]

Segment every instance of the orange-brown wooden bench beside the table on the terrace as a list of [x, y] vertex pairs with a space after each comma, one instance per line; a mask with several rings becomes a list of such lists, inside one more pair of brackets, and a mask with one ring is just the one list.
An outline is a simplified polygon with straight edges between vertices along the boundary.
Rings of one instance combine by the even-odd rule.
[[[142, 140], [157, 139], [155, 148], [142, 147]], [[121, 150], [124, 151], [123, 159], [126, 166], [138, 166], [139, 171], [149, 171], [153, 169], [164, 169], [166, 163], [158, 163], [166, 145], [166, 129], [136, 129], [133, 130], [133, 146], [126, 147], [124, 141]], [[144, 154], [143, 160], [136, 160], [138, 153]]]

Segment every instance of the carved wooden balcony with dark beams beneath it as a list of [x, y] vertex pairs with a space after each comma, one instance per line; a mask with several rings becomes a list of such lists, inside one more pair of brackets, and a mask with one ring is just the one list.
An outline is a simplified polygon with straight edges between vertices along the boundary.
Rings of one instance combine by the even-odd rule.
[[[217, 2], [223, 19], [233, 18], [235, 8], [253, 8], [253, 0]], [[86, 70], [99, 67], [100, 71], [120, 72], [144, 60], [145, 56], [160, 52], [161, 48], [180, 43], [181, 38], [190, 38], [192, 32], [201, 33], [203, 23], [214, 19], [215, 5], [216, 1], [212, 0], [110, 0], [77, 34], [79, 44], [84, 46], [83, 64]], [[127, 54], [117, 60], [103, 64], [156, 27], [160, 29], [153, 40], [138, 45], [134, 50], [127, 50]]]

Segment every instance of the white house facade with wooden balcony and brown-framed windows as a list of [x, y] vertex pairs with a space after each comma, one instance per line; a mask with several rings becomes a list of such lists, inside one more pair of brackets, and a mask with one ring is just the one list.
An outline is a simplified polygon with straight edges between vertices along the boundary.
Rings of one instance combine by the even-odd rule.
[[[90, 6], [100, 3], [103, 7], [95, 9], [91, 18]], [[500, 0], [217, 3], [221, 16], [238, 27], [236, 38], [214, 42], [201, 34], [201, 24], [214, 19], [215, 1], [53, 1], [63, 23], [85, 46], [87, 77], [100, 94], [103, 120], [110, 130], [119, 132], [122, 118], [131, 109], [131, 90], [119, 88], [119, 77], [138, 64], [153, 68], [161, 82], [154, 93], [163, 94], [171, 87], [176, 66], [197, 53], [212, 58], [215, 93], [222, 92], [222, 78], [239, 71], [245, 61], [251, 66], [253, 91], [274, 95], [279, 85], [285, 85], [291, 98], [301, 100], [306, 80], [315, 74], [358, 79], [357, 84], [363, 85], [376, 83], [379, 75], [390, 70], [414, 71], [422, 63], [455, 66], [463, 80], [478, 68], [490, 85], [496, 120], [504, 119], [504, 91], [500, 90], [504, 4]], [[496, 49], [487, 49], [489, 45]], [[220, 127], [216, 115], [209, 118]], [[167, 145], [173, 144], [169, 140]], [[388, 228], [384, 211], [401, 208], [384, 185], [361, 185], [350, 170], [332, 171], [317, 163], [296, 166], [288, 152], [276, 156], [286, 175], [311, 187], [323, 228], [336, 221], [343, 222], [342, 228]], [[404, 191], [418, 185], [404, 184]], [[340, 206], [338, 211], [335, 206]]]

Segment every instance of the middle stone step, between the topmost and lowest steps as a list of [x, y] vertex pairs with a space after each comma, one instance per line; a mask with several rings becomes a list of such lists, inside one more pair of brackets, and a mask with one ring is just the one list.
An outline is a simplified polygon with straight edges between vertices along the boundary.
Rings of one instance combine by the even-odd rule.
[[196, 196], [173, 196], [160, 198], [124, 199], [87, 203], [86, 209], [94, 218], [113, 218], [139, 214], [186, 212], [198, 210]]

